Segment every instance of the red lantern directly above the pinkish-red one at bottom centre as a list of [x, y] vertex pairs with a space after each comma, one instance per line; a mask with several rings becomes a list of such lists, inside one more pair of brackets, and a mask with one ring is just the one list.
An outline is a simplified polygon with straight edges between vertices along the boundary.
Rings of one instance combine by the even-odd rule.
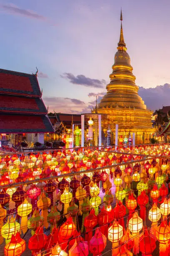
[[104, 206], [103, 206], [101, 212], [97, 215], [97, 220], [98, 220], [98, 224], [100, 226], [100, 230], [101, 230], [102, 234], [107, 236], [109, 215], [108, 215], [108, 212], [105, 210]]

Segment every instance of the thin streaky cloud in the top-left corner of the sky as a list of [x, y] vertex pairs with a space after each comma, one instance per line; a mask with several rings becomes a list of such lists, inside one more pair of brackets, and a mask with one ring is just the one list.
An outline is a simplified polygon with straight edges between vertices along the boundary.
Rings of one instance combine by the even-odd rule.
[[25, 10], [22, 8], [19, 8], [17, 5], [14, 5], [12, 3], [9, 4], [1, 4], [0, 8], [4, 10], [6, 13], [12, 13], [14, 15], [22, 15], [27, 18], [37, 19], [37, 20], [47, 20], [44, 16], [35, 13], [32, 10]]

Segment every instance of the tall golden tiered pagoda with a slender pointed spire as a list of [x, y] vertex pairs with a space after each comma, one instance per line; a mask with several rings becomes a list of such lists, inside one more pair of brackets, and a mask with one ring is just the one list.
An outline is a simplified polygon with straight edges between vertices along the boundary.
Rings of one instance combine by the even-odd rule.
[[115, 125], [119, 125], [119, 136], [129, 136], [135, 133], [135, 143], [150, 143], [154, 133], [151, 123], [152, 111], [146, 108], [144, 101], [138, 95], [139, 87], [135, 84], [133, 67], [127, 53], [122, 29], [122, 10], [120, 13], [120, 40], [112, 65], [110, 83], [107, 93], [98, 105], [99, 114], [107, 114], [102, 118], [102, 128], [106, 133], [108, 125], [112, 130], [112, 143], [115, 140]]

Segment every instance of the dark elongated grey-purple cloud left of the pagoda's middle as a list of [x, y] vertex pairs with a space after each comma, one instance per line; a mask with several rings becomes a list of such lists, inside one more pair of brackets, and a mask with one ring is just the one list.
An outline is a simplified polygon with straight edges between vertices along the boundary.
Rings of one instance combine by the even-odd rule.
[[84, 85], [86, 87], [103, 88], [106, 83], [106, 81], [104, 79], [102, 79], [102, 80], [92, 79], [89, 77], [85, 77], [82, 74], [77, 75], [77, 77], [75, 77], [71, 73], [64, 73], [64, 74], [60, 75], [60, 77], [62, 77], [64, 79], [68, 79], [70, 81], [70, 83], [72, 83], [72, 84], [80, 84], [80, 85]]

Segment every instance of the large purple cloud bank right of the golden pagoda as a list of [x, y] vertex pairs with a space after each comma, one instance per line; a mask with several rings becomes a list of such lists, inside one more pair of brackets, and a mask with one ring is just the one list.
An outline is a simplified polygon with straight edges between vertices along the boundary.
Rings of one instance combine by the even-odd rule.
[[170, 84], [158, 85], [155, 88], [139, 87], [138, 93], [150, 110], [170, 105]]

